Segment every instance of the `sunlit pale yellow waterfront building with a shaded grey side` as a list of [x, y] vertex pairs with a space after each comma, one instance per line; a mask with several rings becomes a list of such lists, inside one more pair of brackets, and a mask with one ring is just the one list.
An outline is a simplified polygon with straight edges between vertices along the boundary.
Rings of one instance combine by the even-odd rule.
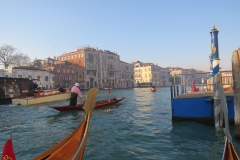
[[132, 62], [134, 65], [135, 86], [168, 86], [169, 70], [153, 63], [143, 63], [140, 61]]

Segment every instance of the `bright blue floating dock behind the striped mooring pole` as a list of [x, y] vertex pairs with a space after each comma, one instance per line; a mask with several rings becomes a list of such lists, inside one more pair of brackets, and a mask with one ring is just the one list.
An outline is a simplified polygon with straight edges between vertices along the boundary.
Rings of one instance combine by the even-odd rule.
[[[225, 91], [229, 122], [234, 122], [234, 93]], [[172, 120], [214, 124], [214, 92], [187, 92], [172, 98]]]

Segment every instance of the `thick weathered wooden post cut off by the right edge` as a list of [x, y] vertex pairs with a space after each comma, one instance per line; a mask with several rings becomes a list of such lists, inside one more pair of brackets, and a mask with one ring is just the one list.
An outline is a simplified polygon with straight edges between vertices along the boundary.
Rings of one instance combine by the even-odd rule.
[[233, 51], [232, 54], [232, 75], [234, 87], [234, 121], [235, 121], [235, 137], [240, 139], [240, 50]]

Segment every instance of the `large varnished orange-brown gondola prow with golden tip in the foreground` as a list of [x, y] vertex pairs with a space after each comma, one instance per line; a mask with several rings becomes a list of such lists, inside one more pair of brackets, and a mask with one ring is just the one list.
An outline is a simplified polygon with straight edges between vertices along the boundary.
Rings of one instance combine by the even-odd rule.
[[92, 111], [95, 107], [97, 88], [89, 90], [83, 106], [86, 116], [82, 123], [68, 137], [33, 160], [80, 160], [83, 157]]

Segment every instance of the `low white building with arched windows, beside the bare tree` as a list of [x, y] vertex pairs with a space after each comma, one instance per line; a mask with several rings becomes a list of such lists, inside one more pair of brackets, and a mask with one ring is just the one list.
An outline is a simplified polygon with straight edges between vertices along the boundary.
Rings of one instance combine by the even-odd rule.
[[54, 74], [44, 69], [21, 66], [12, 68], [12, 77], [36, 79], [36, 83], [43, 89], [54, 88]]

